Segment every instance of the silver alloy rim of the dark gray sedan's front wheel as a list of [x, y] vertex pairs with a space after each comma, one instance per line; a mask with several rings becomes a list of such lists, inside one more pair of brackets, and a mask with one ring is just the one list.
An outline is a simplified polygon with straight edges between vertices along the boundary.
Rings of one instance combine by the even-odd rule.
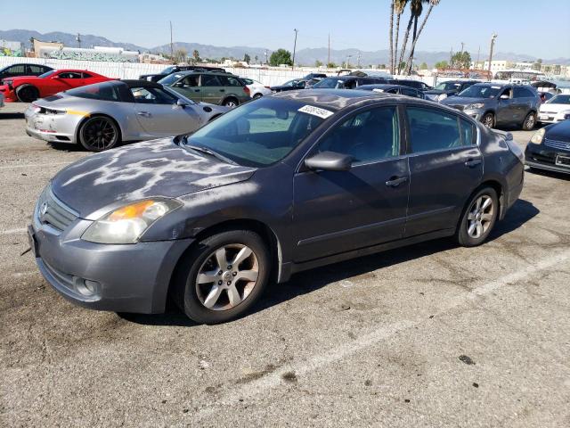
[[196, 293], [208, 309], [227, 310], [246, 300], [257, 284], [259, 263], [247, 245], [232, 243], [212, 251], [199, 268]]

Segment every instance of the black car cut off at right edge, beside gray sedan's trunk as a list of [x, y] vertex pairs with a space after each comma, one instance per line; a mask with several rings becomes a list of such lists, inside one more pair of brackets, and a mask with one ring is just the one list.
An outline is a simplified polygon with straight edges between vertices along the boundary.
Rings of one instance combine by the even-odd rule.
[[570, 174], [570, 120], [536, 131], [526, 144], [525, 163], [531, 169]]

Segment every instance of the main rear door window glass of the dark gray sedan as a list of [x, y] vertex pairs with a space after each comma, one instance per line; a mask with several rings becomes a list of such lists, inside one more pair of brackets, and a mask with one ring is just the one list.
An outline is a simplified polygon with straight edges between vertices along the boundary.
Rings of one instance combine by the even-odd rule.
[[458, 118], [454, 114], [419, 107], [408, 107], [406, 111], [410, 122], [411, 152], [430, 152], [462, 145]]

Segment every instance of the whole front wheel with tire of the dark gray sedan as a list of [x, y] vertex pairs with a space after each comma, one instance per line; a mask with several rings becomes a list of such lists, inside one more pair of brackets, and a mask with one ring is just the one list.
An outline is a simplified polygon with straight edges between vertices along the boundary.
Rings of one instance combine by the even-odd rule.
[[[247, 251], [238, 266], [231, 264]], [[271, 257], [261, 236], [231, 230], [200, 241], [181, 266], [173, 290], [176, 305], [193, 321], [211, 325], [240, 317], [256, 303], [269, 282]]]

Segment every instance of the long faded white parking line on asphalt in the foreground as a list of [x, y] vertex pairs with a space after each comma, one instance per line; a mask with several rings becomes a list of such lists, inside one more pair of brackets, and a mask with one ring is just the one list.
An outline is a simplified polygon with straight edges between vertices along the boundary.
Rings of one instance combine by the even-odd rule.
[[[494, 281], [476, 287], [467, 294], [460, 295], [459, 297], [453, 299], [451, 303], [445, 305], [442, 309], [437, 311], [434, 315], [444, 315], [452, 309], [456, 309], [472, 300], [476, 300], [477, 297], [485, 296], [487, 294], [495, 292], [508, 284], [521, 281], [527, 276], [533, 275], [533, 273], [551, 268], [568, 259], [570, 259], [570, 250], [561, 251], [558, 254], [540, 259], [532, 265], [528, 265], [526, 268], [519, 269], [517, 272], [513, 272], [506, 276], [501, 276]], [[282, 367], [281, 370], [275, 371], [272, 374], [266, 374], [264, 377], [261, 377], [252, 383], [248, 383], [247, 385], [244, 385], [237, 390], [233, 390], [225, 398], [221, 398], [211, 406], [204, 407], [199, 410], [195, 414], [195, 417], [201, 419], [203, 417], [211, 415], [212, 413], [215, 413], [218, 410], [217, 407], [219, 406], [231, 406], [239, 404], [240, 400], [253, 399], [268, 390], [272, 390], [273, 388], [276, 388], [284, 383], [284, 374], [287, 374], [289, 372], [293, 372], [297, 376], [309, 374], [318, 370], [322, 366], [327, 366], [343, 358], [349, 357], [350, 355], [353, 355], [360, 350], [369, 348], [379, 342], [386, 340], [391, 336], [394, 336], [396, 333], [403, 332], [404, 330], [408, 330], [411, 327], [415, 327], [425, 322], [425, 317], [417, 317], [416, 319], [403, 320], [391, 325], [382, 325], [378, 329], [373, 330], [371, 333], [363, 334], [351, 342], [345, 342], [343, 345], [338, 346], [337, 348], [326, 350], [326, 352], [314, 355], [312, 358], [305, 359], [304, 361], [298, 361], [297, 363], [293, 362], [288, 366]]]

